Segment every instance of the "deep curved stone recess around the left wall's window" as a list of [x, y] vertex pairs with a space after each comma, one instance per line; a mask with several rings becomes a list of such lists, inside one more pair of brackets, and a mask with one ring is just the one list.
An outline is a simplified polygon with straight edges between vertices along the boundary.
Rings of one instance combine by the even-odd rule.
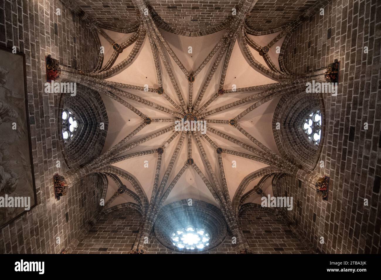
[[[64, 142], [62, 137], [62, 112], [71, 110], [78, 119], [75, 136]], [[76, 84], [76, 94], [62, 93], [58, 109], [58, 139], [69, 168], [80, 168], [101, 154], [106, 141], [109, 119], [106, 107], [98, 92]]]

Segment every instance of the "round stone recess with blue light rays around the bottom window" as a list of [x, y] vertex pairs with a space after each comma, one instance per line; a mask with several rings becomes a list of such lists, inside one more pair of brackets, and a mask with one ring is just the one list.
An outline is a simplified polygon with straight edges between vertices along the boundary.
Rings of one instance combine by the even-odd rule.
[[154, 233], [166, 248], [200, 253], [223, 242], [227, 226], [218, 207], [196, 199], [183, 199], [163, 206]]

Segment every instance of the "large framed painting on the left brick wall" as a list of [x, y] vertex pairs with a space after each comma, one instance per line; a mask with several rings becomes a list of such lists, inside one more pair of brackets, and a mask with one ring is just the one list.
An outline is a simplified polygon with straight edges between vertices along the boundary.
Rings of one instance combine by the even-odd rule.
[[37, 205], [25, 54], [0, 48], [0, 228]]

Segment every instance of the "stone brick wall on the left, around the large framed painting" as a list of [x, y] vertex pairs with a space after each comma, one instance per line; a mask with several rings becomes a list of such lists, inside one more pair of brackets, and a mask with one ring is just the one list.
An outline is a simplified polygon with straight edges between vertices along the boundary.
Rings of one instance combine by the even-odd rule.
[[[54, 198], [53, 175], [67, 167], [57, 135], [59, 96], [43, 90], [45, 56], [52, 54], [63, 64], [92, 70], [98, 56], [96, 41], [86, 24], [58, 0], [5, 0], [0, 2], [0, 45], [16, 46], [26, 54], [38, 201], [38, 206], [0, 229], [0, 253], [59, 253], [86, 230], [98, 203], [94, 185], [101, 180], [91, 175], [72, 186], [66, 197]], [[61, 168], [56, 168], [57, 160]]]

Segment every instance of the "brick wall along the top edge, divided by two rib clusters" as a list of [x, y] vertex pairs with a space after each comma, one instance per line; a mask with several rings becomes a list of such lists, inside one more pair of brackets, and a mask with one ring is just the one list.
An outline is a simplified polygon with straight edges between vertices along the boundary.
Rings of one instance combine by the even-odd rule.
[[[102, 27], [128, 30], [138, 24], [133, 1], [73, 1]], [[281, 27], [295, 21], [318, 2], [319, 0], [258, 0], [246, 23], [258, 31]], [[218, 26], [224, 26], [232, 17], [232, 9], [238, 11], [243, 0], [149, 0], [146, 3], [152, 18], [161, 28], [176, 34], [199, 36], [209, 33], [205, 33], [205, 30], [216, 32]]]

